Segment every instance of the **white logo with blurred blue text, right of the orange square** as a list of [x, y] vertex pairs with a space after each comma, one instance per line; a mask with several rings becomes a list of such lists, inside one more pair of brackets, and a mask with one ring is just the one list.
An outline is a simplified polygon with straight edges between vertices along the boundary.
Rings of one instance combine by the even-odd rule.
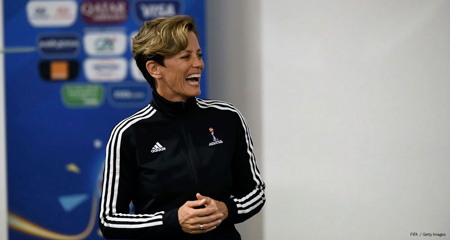
[[128, 62], [125, 58], [88, 58], [83, 63], [83, 70], [90, 82], [121, 82], [128, 73]]

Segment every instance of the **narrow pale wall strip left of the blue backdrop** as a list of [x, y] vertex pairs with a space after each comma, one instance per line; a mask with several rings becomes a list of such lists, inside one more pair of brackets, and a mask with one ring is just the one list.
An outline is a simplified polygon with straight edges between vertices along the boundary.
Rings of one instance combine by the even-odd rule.
[[[0, 49], [4, 49], [3, 0], [0, 0]], [[8, 238], [6, 204], [6, 141], [5, 141], [4, 55], [0, 54], [0, 239]]]

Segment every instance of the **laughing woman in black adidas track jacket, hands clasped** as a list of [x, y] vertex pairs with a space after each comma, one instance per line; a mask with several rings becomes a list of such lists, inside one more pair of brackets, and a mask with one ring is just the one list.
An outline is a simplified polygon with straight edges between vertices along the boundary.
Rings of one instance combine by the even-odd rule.
[[[196, 98], [204, 64], [193, 18], [142, 25], [136, 64], [153, 100], [108, 141], [99, 226], [107, 239], [241, 239], [265, 203], [247, 122], [231, 104]], [[129, 213], [132, 200], [135, 214]]]

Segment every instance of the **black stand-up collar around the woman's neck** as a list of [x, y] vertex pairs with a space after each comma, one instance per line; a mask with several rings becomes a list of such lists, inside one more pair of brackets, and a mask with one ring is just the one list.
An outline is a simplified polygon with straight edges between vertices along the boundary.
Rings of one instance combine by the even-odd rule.
[[189, 111], [195, 110], [197, 107], [195, 97], [189, 98], [186, 102], [171, 102], [159, 95], [156, 90], [153, 90], [152, 94], [153, 99], [150, 104], [157, 111], [170, 117], [179, 117]]

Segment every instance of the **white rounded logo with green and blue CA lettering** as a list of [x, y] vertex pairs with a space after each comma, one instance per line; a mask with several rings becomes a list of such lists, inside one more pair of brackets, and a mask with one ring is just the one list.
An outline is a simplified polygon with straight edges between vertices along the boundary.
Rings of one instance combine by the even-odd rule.
[[83, 37], [85, 52], [91, 56], [122, 55], [128, 38], [125, 32], [87, 32]]

